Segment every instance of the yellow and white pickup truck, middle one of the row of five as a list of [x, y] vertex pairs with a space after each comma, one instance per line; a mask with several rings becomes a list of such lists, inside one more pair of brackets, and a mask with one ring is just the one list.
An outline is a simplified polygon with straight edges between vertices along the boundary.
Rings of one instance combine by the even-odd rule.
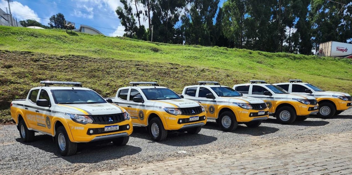
[[[239, 123], [247, 127], [258, 127], [269, 118], [269, 108], [258, 98], [242, 97], [240, 93], [222, 86], [219, 82], [198, 82], [199, 85], [186, 86], [182, 97], [201, 103], [207, 111], [208, 119], [215, 119], [224, 131], [233, 131]], [[214, 85], [208, 85], [214, 84]]]

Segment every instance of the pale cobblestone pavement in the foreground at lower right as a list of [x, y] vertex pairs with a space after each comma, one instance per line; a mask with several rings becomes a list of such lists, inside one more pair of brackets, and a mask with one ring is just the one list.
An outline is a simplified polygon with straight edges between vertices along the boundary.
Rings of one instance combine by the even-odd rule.
[[288, 142], [273, 147], [263, 145], [235, 155], [208, 153], [92, 174], [352, 174], [351, 147], [352, 132], [347, 132], [326, 135], [314, 141]]

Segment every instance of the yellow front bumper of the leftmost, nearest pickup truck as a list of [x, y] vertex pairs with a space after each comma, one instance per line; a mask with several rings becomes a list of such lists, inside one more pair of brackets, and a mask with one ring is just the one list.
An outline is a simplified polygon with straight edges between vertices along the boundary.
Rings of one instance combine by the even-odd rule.
[[[133, 125], [131, 118], [119, 123], [114, 124], [80, 124], [74, 121], [68, 122], [71, 135], [73, 137], [72, 142], [94, 142], [101, 140], [108, 140], [117, 137], [129, 136], [132, 134]], [[119, 125], [117, 131], [103, 131], [106, 126]], [[129, 128], [127, 129], [127, 125]], [[93, 130], [93, 133], [89, 131]]]

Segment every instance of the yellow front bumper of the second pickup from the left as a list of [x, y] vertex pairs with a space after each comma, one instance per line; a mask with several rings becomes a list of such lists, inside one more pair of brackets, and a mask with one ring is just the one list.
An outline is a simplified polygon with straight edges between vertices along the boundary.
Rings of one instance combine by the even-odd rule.
[[[166, 112], [165, 112], [166, 113]], [[186, 116], [186, 115], [170, 115], [163, 114], [166, 121], [166, 130], [179, 130], [185, 128], [193, 128], [203, 126], [207, 123], [206, 113], [202, 112], [198, 115]], [[197, 121], [189, 121], [191, 117], [199, 117]]]

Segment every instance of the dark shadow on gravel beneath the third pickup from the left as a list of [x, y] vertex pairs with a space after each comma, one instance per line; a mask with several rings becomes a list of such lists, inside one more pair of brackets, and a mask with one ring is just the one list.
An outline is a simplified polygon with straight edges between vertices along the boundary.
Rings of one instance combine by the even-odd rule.
[[[207, 121], [207, 124], [203, 126], [203, 129], [212, 129], [212, 130], [218, 130], [221, 132], [226, 132], [222, 131], [219, 127], [219, 124], [216, 122], [209, 122]], [[262, 136], [265, 134], [270, 134], [278, 131], [278, 128], [273, 128], [273, 127], [264, 127], [264, 126], [259, 126], [257, 128], [249, 128], [244, 124], [239, 124], [236, 128], [236, 130], [233, 131], [233, 133], [236, 134], [248, 134], [252, 136]]]

